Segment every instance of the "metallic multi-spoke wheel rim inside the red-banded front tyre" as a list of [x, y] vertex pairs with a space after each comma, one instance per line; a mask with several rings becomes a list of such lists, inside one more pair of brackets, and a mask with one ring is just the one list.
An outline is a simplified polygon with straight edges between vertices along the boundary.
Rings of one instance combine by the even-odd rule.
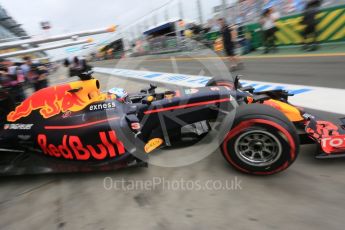
[[235, 153], [246, 164], [265, 167], [280, 158], [282, 145], [273, 134], [263, 130], [253, 130], [237, 138]]

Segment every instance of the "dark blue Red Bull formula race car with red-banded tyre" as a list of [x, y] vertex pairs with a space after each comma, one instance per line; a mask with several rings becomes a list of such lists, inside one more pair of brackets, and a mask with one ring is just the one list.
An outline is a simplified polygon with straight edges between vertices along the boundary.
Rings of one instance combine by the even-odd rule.
[[135, 94], [119, 88], [103, 93], [91, 74], [37, 91], [6, 113], [1, 175], [147, 166], [155, 150], [188, 143], [186, 136], [202, 139], [212, 129], [225, 160], [248, 174], [285, 170], [300, 144], [317, 143], [320, 158], [345, 152], [343, 126], [289, 104], [284, 90], [254, 92], [236, 78], [201, 88], [157, 92], [150, 85]]

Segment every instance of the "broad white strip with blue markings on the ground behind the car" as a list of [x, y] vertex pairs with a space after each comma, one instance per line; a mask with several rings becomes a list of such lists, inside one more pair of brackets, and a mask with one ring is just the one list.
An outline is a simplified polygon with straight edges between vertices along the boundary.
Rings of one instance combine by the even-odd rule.
[[[209, 76], [196, 76], [176, 73], [162, 73], [152, 71], [138, 71], [116, 68], [94, 68], [95, 72], [110, 74], [113, 76], [139, 79], [148, 82], [157, 82], [163, 84], [173, 84], [184, 87], [202, 87], [211, 79]], [[285, 89], [295, 96], [290, 97], [291, 103], [316, 109], [320, 111], [345, 114], [345, 90], [326, 87], [304, 86], [294, 84], [282, 84], [273, 82], [249, 81], [243, 80], [243, 85], [252, 85], [257, 91]]]

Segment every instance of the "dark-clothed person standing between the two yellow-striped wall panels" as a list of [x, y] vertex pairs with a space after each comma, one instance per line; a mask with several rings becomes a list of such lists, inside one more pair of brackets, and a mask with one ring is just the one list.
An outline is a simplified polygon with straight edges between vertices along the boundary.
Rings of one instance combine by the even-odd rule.
[[[302, 24], [305, 26], [303, 31], [304, 45], [302, 46], [303, 50], [315, 51], [318, 49], [317, 38], [318, 33], [316, 26], [318, 24], [316, 15], [319, 12], [319, 7], [321, 5], [320, 0], [312, 0], [306, 4]], [[308, 42], [308, 39], [311, 39], [311, 42]]]

